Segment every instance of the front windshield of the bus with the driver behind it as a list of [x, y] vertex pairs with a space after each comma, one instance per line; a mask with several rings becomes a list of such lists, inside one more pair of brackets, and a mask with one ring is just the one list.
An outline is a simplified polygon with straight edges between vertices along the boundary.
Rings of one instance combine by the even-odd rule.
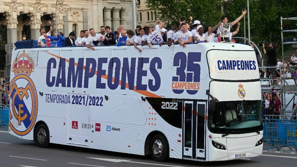
[[215, 111], [210, 113], [211, 131], [225, 133], [230, 131], [261, 130], [262, 105], [254, 101], [219, 101]]

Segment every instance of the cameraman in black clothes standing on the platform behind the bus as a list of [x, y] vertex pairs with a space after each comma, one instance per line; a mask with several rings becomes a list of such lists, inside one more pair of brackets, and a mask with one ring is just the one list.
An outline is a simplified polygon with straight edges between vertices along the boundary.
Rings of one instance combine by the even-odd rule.
[[[274, 49], [274, 44], [272, 42], [269, 43], [269, 50], [265, 50], [265, 44], [263, 42], [263, 53], [268, 54], [268, 64], [269, 67], [277, 66], [277, 52]], [[272, 79], [275, 79], [275, 68], [270, 69]], [[275, 81], [273, 81], [274, 83]]]

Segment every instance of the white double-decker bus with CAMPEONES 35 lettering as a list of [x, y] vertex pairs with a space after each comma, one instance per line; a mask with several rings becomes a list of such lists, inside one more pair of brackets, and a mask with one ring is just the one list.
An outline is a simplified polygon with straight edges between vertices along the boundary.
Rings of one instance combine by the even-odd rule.
[[50, 143], [221, 161], [262, 154], [252, 47], [209, 42], [16, 49], [9, 132]]

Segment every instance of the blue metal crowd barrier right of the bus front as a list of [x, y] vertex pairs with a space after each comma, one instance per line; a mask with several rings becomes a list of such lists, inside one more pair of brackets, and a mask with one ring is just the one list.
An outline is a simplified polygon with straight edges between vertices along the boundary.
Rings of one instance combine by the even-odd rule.
[[[289, 146], [295, 146], [295, 151], [297, 151], [297, 120], [265, 119], [263, 120], [263, 133], [266, 142], [272, 144], [267, 151], [271, 147], [276, 147], [279, 151], [282, 147]], [[278, 148], [275, 145], [282, 146]]]

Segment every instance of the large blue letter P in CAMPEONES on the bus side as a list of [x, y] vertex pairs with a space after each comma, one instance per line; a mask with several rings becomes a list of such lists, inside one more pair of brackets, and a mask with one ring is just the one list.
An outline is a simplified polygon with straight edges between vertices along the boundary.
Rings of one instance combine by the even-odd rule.
[[86, 58], [85, 77], [83, 82], [84, 88], [89, 88], [89, 78], [95, 75], [96, 66], [97, 64], [94, 58]]

